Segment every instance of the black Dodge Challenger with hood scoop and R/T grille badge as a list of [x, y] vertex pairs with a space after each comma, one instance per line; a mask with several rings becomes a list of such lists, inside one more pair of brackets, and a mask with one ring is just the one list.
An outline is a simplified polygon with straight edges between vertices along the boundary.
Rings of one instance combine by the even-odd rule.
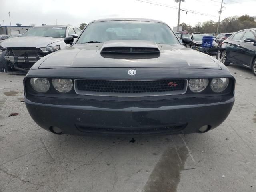
[[95, 20], [69, 48], [38, 60], [24, 78], [34, 121], [55, 134], [202, 133], [234, 104], [235, 79], [220, 61], [185, 48], [148, 19]]

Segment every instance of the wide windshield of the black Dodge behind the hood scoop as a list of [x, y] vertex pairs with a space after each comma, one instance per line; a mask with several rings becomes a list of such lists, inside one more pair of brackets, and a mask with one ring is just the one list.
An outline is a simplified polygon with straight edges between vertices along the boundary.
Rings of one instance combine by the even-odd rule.
[[162, 44], [180, 44], [163, 23], [142, 21], [105, 21], [89, 24], [77, 43], [109, 40], [148, 40]]

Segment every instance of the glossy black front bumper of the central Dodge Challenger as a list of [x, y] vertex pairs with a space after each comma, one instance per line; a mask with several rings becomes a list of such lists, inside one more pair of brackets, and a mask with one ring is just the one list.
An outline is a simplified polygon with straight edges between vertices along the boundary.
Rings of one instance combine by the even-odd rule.
[[63, 134], [181, 134], [204, 125], [219, 126], [230, 113], [234, 94], [154, 101], [104, 101], [25, 94], [34, 121]]

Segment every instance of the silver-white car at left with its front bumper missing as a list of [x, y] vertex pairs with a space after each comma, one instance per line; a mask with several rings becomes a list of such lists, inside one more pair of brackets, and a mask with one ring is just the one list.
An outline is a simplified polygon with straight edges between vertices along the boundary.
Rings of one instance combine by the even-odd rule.
[[0, 44], [0, 48], [6, 50], [2, 53], [5, 54], [6, 61], [0, 60], [0, 68], [2, 71], [28, 71], [40, 58], [70, 46], [63, 41], [65, 37], [77, 38], [80, 33], [79, 28], [70, 25], [34, 26], [20, 37], [5, 40]]

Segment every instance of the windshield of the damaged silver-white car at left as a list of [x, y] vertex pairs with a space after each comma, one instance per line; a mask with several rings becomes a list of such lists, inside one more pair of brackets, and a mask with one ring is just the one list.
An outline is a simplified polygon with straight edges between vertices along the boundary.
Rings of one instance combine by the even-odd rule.
[[66, 27], [45, 26], [33, 27], [27, 30], [22, 37], [55, 37], [64, 38], [66, 36]]

